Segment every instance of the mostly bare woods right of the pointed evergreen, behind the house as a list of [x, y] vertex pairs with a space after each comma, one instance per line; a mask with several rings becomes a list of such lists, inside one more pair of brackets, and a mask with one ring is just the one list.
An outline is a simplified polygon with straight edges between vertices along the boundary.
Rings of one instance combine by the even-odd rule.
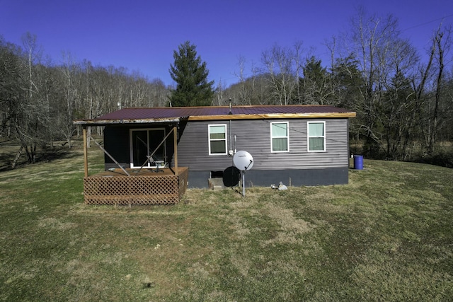
[[274, 45], [239, 83], [217, 87], [217, 105], [334, 105], [357, 112], [350, 120], [353, 151], [372, 158], [417, 160], [453, 168], [451, 25], [432, 32], [426, 50], [401, 37], [393, 16], [358, 13], [345, 35], [326, 42], [330, 66], [302, 42]]

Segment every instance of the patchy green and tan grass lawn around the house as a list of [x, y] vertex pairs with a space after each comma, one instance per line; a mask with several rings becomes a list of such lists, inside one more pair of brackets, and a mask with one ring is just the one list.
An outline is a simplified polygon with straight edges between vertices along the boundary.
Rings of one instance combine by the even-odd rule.
[[364, 166], [132, 208], [83, 203], [80, 145], [3, 170], [0, 301], [453, 301], [453, 170]]

